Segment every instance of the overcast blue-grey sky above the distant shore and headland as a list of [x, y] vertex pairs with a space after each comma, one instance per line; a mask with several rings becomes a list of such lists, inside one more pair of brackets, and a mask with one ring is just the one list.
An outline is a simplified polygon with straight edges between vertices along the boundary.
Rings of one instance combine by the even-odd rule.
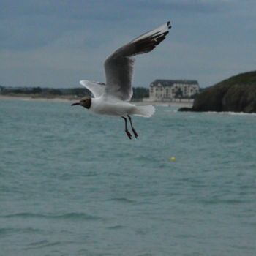
[[105, 82], [110, 53], [170, 20], [166, 39], [136, 56], [133, 86], [212, 86], [256, 69], [255, 13], [255, 0], [0, 0], [0, 85]]

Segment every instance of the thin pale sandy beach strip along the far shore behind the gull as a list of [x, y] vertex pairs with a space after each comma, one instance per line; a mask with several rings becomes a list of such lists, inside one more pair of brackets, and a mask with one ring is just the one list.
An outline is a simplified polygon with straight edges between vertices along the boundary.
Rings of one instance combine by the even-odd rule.
[[[34, 97], [17, 97], [17, 96], [7, 96], [0, 95], [0, 100], [23, 100], [23, 101], [35, 101], [35, 102], [75, 102], [78, 99], [64, 99], [64, 98], [34, 98]], [[191, 108], [193, 101], [181, 101], [181, 102], [143, 102], [143, 101], [133, 101], [134, 105], [154, 105], [160, 107], [187, 107]]]

